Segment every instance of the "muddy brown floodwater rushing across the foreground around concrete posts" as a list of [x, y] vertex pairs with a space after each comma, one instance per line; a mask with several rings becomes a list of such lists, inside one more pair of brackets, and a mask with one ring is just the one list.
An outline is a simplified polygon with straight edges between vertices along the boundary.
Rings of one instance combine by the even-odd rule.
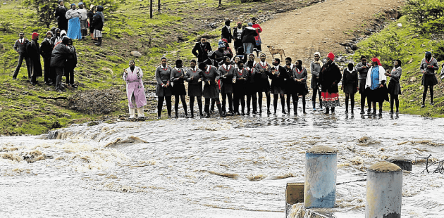
[[[359, 110], [357, 110], [359, 112]], [[304, 153], [338, 150], [335, 217], [364, 217], [366, 167], [444, 158], [444, 120], [271, 115], [73, 125], [0, 138], [0, 217], [285, 217]], [[419, 159], [418, 159], [419, 160]], [[443, 217], [444, 174], [404, 172], [402, 217]]]

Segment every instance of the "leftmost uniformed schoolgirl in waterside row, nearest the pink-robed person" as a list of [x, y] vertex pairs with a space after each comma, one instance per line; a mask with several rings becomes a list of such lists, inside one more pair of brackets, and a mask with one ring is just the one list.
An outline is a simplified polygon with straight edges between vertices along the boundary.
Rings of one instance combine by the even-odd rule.
[[168, 66], [167, 60], [165, 57], [161, 58], [161, 65], [156, 68], [156, 96], [158, 98], [157, 101], [157, 119], [161, 118], [162, 114], [162, 106], [164, 105], [164, 101], [166, 101], [166, 110], [168, 111], [168, 117], [171, 118], [171, 95], [173, 94], [171, 91], [171, 67]]

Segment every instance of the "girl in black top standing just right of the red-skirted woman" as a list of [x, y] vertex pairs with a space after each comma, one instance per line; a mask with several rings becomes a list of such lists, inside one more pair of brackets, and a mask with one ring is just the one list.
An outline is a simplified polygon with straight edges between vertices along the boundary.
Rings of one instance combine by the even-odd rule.
[[348, 63], [347, 68], [344, 69], [343, 73], [343, 85], [340, 87], [345, 93], [345, 113], [348, 113], [348, 99], [350, 98], [351, 112], [354, 108], [354, 94], [359, 90], [358, 87], [358, 72], [354, 68], [353, 63]]

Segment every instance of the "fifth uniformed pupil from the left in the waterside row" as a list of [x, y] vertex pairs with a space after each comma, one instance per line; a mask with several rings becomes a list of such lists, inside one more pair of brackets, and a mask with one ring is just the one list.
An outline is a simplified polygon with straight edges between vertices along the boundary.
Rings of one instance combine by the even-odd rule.
[[[239, 60], [240, 61], [240, 60]], [[221, 94], [222, 94], [222, 111], [226, 111], [226, 100], [228, 98], [228, 113], [233, 113], [233, 77], [235, 68], [230, 65], [230, 58], [227, 56], [223, 58], [223, 65], [219, 67], [219, 75], [221, 79]], [[238, 62], [239, 63], [239, 62]]]

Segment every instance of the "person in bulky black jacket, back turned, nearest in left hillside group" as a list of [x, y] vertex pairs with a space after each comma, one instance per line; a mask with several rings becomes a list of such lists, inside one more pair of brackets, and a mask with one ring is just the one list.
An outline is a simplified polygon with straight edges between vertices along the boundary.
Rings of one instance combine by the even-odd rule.
[[51, 53], [51, 68], [56, 72], [56, 91], [65, 91], [61, 84], [61, 77], [63, 76], [63, 69], [65, 62], [71, 51], [68, 48], [68, 37], [63, 37], [62, 42], [54, 47]]

